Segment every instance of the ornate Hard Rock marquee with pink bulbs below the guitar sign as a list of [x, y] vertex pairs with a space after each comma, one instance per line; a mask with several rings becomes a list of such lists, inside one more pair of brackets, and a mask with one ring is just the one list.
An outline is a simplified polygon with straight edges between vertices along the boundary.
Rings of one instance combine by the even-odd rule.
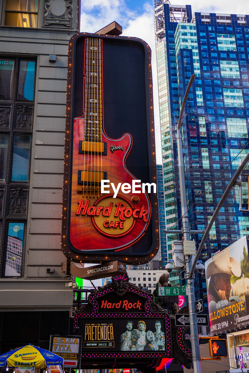
[[129, 283], [127, 275], [92, 291], [88, 303], [74, 316], [74, 333], [82, 335], [82, 366], [157, 367], [163, 358], [175, 357], [191, 366], [191, 350], [182, 344], [175, 327], [154, 296]]

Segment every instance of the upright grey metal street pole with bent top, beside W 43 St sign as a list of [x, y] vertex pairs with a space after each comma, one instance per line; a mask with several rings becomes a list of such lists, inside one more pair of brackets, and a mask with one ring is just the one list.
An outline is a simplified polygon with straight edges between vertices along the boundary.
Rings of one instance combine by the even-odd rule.
[[[187, 214], [187, 194], [185, 186], [185, 175], [184, 175], [184, 162], [182, 153], [182, 137], [181, 137], [181, 124], [182, 116], [184, 113], [185, 104], [187, 102], [188, 94], [191, 85], [194, 82], [196, 74], [191, 75], [190, 81], [188, 82], [187, 90], [184, 95], [182, 102], [182, 107], [179, 115], [178, 124], [176, 126], [177, 130], [177, 153], [178, 153], [178, 168], [179, 168], [179, 186], [180, 186], [180, 196], [181, 196], [181, 214], [182, 214], [182, 233], [183, 239], [190, 240], [190, 228], [188, 225], [188, 214]], [[186, 278], [187, 289], [188, 289], [188, 308], [189, 308], [189, 319], [190, 319], [190, 334], [191, 334], [191, 347], [192, 347], [192, 357], [193, 357], [193, 370], [194, 373], [201, 373], [201, 361], [200, 361], [200, 347], [199, 347], [199, 337], [198, 337], [198, 327], [197, 327], [197, 317], [196, 317], [196, 299], [194, 294], [194, 276], [189, 276], [191, 269], [191, 255], [185, 256], [186, 261]]]

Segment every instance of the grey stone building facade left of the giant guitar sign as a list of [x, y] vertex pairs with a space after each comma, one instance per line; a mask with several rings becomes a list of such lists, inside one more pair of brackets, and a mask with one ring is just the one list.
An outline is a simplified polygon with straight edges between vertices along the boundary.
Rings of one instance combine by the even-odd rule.
[[[17, 341], [48, 348], [50, 332], [68, 332], [62, 185], [68, 42], [79, 20], [80, 0], [0, 3], [0, 353]], [[23, 326], [17, 339], [19, 318], [33, 331]]]

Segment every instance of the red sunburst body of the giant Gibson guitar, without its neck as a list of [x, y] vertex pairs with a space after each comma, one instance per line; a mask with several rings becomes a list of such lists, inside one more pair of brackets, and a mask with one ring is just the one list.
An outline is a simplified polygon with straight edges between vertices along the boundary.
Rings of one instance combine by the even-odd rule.
[[[141, 236], [148, 225], [150, 220], [150, 202], [146, 193], [137, 193], [138, 197], [135, 204], [132, 203], [133, 193], [123, 193], [121, 188], [119, 189], [117, 198], [113, 198], [113, 189], [110, 183], [115, 185], [117, 188], [121, 182], [129, 183], [132, 185], [132, 180], [135, 178], [129, 173], [125, 167], [125, 159], [132, 146], [132, 138], [129, 134], [125, 134], [119, 140], [111, 140], [102, 134], [102, 142], [107, 147], [107, 155], [95, 154], [92, 146], [92, 152], [90, 149], [85, 154], [79, 154], [79, 142], [82, 140], [82, 134], [84, 133], [84, 119], [74, 119], [74, 148], [73, 148], [73, 169], [72, 169], [72, 198], [71, 198], [71, 215], [70, 215], [70, 241], [71, 244], [77, 248], [77, 250], [119, 250], [123, 247], [127, 247], [135, 242], [139, 236]], [[111, 148], [116, 149], [111, 151]], [[90, 170], [92, 172], [104, 171], [107, 173], [107, 180], [110, 180], [109, 194], [102, 193], [101, 184], [98, 182], [92, 182], [91, 188], [89, 180], [85, 180], [84, 184], [79, 184], [78, 173], [79, 170]], [[97, 180], [95, 180], [97, 181]], [[99, 179], [100, 181], [100, 179]], [[136, 189], [139, 191], [139, 186], [136, 184]], [[88, 186], [86, 188], [86, 186]], [[79, 189], [83, 191], [79, 192]], [[91, 189], [91, 190], [89, 190]], [[78, 190], [78, 192], [77, 192]], [[140, 190], [141, 191], [141, 190]], [[122, 198], [120, 198], [122, 197]], [[89, 214], [83, 214], [83, 208], [80, 210], [80, 214], [76, 214], [79, 208], [79, 201], [84, 201], [83, 206], [89, 201], [87, 208], [90, 206], [103, 206], [109, 207], [112, 203], [110, 215], [107, 212], [106, 216], [103, 216], [102, 209], [98, 216], [90, 215], [93, 213], [93, 209], [90, 209]], [[134, 215], [138, 216], [129, 217], [124, 216], [125, 220], [120, 220], [122, 213], [125, 212], [123, 208], [118, 216], [114, 216], [117, 207], [116, 204], [126, 204], [128, 209], [135, 211]], [[96, 209], [97, 210], [97, 209]], [[142, 211], [142, 216], [140, 216]], [[127, 215], [130, 214], [130, 210]], [[109, 216], [108, 216], [109, 215]], [[104, 222], [107, 222], [104, 225]], [[114, 226], [110, 227], [111, 222], [114, 222]], [[119, 225], [117, 226], [117, 223]], [[123, 222], [120, 228], [120, 222]], [[99, 228], [99, 229], [98, 229]], [[132, 228], [132, 229], [130, 229]]]

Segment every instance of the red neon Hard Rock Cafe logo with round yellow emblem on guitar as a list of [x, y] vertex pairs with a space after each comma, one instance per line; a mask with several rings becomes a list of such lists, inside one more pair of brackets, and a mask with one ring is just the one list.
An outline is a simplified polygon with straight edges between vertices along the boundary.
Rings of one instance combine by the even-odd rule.
[[124, 236], [132, 231], [136, 220], [148, 222], [148, 210], [144, 204], [133, 206], [127, 198], [117, 195], [104, 195], [92, 205], [90, 200], [78, 201], [76, 215], [89, 216], [93, 226], [102, 234], [112, 237]]

